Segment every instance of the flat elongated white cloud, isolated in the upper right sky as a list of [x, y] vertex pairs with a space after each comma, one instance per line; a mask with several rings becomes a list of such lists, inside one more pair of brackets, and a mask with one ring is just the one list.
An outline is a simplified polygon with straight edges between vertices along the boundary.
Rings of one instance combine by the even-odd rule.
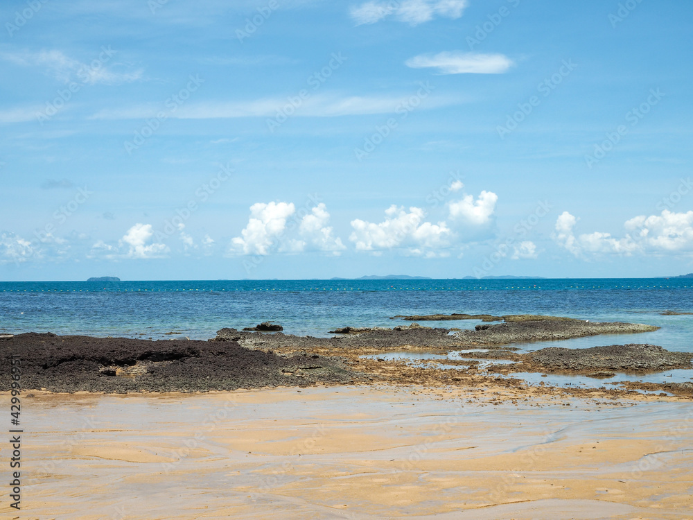
[[421, 54], [405, 62], [412, 69], [438, 69], [439, 74], [500, 74], [513, 62], [502, 54], [465, 53], [461, 51]]

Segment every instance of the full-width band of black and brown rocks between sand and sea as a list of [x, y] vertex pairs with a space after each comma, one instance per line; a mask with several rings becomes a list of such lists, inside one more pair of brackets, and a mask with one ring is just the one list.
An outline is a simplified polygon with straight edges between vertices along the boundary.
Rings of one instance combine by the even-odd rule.
[[[638, 374], [692, 367], [693, 354], [669, 352], [655, 345], [612, 345], [588, 349], [549, 347], [518, 354], [510, 342], [533, 343], [656, 330], [643, 324], [584, 322], [532, 315], [504, 317], [502, 324], [452, 331], [419, 324], [392, 329], [341, 329], [332, 338], [292, 336], [283, 332], [221, 329], [216, 338], [141, 340], [25, 333], [0, 340], [0, 354], [21, 354], [23, 387], [52, 392], [208, 392], [238, 388], [308, 387], [310, 385], [416, 384], [431, 388], [493, 389], [501, 401], [539, 395], [649, 400], [693, 400], [693, 383], [628, 381], [601, 383], [640, 367]], [[266, 324], [265, 324], [266, 325]], [[281, 327], [279, 327], [281, 329]], [[464, 350], [466, 349], [466, 350]], [[392, 358], [426, 353], [464, 352], [464, 358], [410, 363]], [[410, 353], [410, 354], [407, 354]], [[391, 358], [380, 357], [389, 354]], [[6, 365], [6, 366], [5, 366]], [[0, 385], [9, 388], [9, 367], [0, 367]], [[515, 373], [586, 375], [584, 388], [525, 381]], [[7, 383], [7, 384], [6, 384]], [[607, 386], [608, 385], [608, 386]], [[611, 387], [611, 388], [608, 388]], [[658, 394], [658, 395], [654, 395]]]

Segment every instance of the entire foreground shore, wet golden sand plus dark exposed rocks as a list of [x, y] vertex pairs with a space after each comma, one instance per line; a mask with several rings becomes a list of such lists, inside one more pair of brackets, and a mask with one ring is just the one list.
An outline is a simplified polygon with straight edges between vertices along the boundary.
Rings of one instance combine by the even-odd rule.
[[[23, 388], [21, 512], [7, 503], [0, 512], [692, 518], [691, 383], [614, 385], [595, 374], [586, 387], [551, 383], [570, 370], [638, 366], [644, 377], [687, 367], [692, 355], [653, 345], [516, 354], [507, 345], [517, 338], [647, 328], [531, 318], [461, 335], [412, 325], [334, 338], [6, 337], [3, 366], [19, 360]], [[459, 350], [477, 357], [448, 368], [396, 357]], [[538, 382], [502, 376], [504, 360], [533, 368]], [[0, 370], [5, 388], [14, 377]], [[0, 403], [10, 409], [8, 392]], [[0, 447], [3, 460], [10, 447]]]

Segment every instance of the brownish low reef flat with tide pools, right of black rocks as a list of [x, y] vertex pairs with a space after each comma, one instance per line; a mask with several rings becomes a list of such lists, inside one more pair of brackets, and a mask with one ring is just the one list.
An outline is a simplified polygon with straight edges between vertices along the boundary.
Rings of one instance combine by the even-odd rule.
[[[552, 316], [509, 315], [502, 324], [477, 325], [476, 330], [450, 333], [450, 329], [422, 327], [417, 323], [387, 329], [383, 327], [342, 327], [334, 329], [338, 336], [314, 338], [284, 333], [263, 334], [258, 332], [221, 329], [215, 341], [236, 341], [251, 349], [261, 349], [281, 355], [308, 352], [319, 356], [340, 356], [351, 369], [370, 376], [374, 383], [455, 385], [475, 387], [495, 385], [527, 391], [527, 383], [512, 377], [500, 378], [493, 374], [512, 372], [562, 372], [590, 376], [612, 376], [614, 370], [638, 367], [641, 372], [669, 370], [674, 367], [690, 367], [691, 355], [668, 352], [653, 345], [613, 345], [595, 349], [557, 349], [551, 347], [537, 352], [520, 354], [510, 343], [561, 340], [603, 333], [638, 333], [655, 331], [658, 327], [646, 324], [622, 322], [588, 322]], [[480, 348], [485, 349], [480, 350]], [[413, 364], [403, 358], [380, 357], [380, 354], [420, 352], [446, 354], [461, 349], [465, 358], [439, 358], [437, 361]], [[564, 355], [561, 353], [565, 352]], [[536, 356], [534, 358], [533, 356]], [[488, 361], [514, 361], [511, 364]], [[441, 368], [441, 365], [448, 367]], [[449, 365], [452, 365], [450, 367]], [[661, 390], [683, 398], [693, 397], [693, 385], [649, 385], [632, 390]], [[542, 386], [542, 392], [583, 395], [597, 389], [555, 388]], [[612, 396], [628, 395], [628, 390], [605, 390]]]

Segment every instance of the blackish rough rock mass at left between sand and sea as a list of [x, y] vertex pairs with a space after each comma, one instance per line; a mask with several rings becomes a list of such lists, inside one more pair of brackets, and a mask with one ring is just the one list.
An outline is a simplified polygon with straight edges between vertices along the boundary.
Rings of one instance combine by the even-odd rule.
[[20, 360], [24, 390], [204, 392], [353, 380], [340, 360], [310, 354], [282, 357], [234, 341], [26, 333], [0, 343], [1, 388], [10, 388], [12, 355]]

